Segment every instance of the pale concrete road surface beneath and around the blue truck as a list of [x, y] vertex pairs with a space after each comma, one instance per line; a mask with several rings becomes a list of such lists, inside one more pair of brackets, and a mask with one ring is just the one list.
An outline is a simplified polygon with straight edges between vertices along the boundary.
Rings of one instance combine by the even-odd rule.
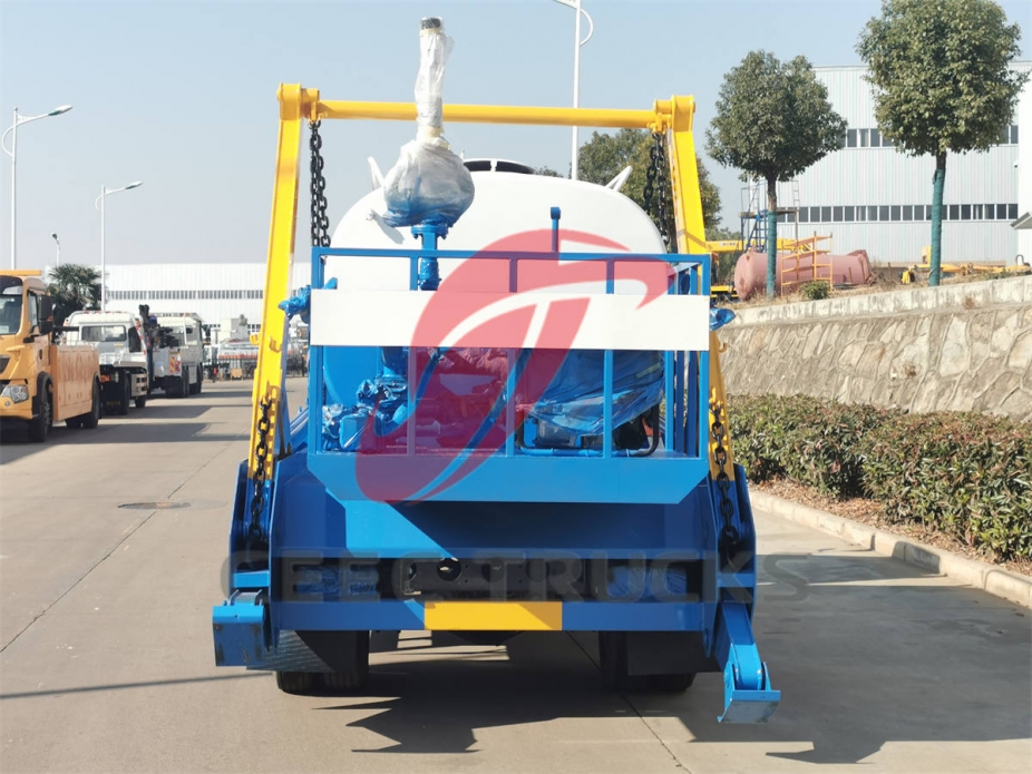
[[[300, 385], [294, 385], [295, 388]], [[946, 578], [758, 513], [757, 637], [782, 703], [723, 686], [606, 693], [590, 638], [415, 633], [361, 697], [216, 669], [250, 384], [0, 448], [2, 772], [1029, 772], [1032, 619]], [[132, 503], [174, 501], [176, 509]]]

